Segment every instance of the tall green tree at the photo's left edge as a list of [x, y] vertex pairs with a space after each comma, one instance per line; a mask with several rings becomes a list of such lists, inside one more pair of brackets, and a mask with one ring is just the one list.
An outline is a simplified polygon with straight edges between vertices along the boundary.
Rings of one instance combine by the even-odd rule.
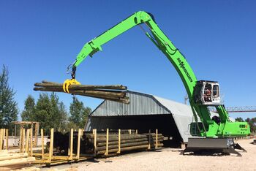
[[11, 129], [10, 123], [17, 121], [18, 104], [15, 102], [15, 91], [9, 86], [9, 72], [6, 66], [0, 73], [0, 127]]

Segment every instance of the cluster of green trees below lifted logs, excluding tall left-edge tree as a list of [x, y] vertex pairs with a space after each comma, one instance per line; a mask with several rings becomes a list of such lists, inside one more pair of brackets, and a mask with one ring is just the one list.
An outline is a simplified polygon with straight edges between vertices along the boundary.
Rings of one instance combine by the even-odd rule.
[[56, 93], [39, 94], [37, 102], [29, 95], [21, 113], [22, 121], [37, 121], [40, 127], [48, 133], [51, 128], [56, 130], [83, 128], [86, 124], [91, 108], [84, 107], [76, 96], [73, 96], [69, 112]]

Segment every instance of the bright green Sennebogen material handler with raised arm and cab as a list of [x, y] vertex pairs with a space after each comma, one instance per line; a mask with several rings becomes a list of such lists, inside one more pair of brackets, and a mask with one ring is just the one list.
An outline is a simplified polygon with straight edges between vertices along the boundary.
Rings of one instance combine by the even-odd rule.
[[[148, 12], [135, 12], [116, 26], [108, 29], [108, 31], [87, 42], [80, 50], [75, 62], [68, 67], [71, 70], [72, 80], [75, 80], [77, 66], [87, 56], [93, 56], [94, 53], [102, 50], [102, 45], [130, 28], [134, 26], [143, 28], [143, 25], [149, 30], [147, 32], [143, 29], [146, 36], [165, 54], [175, 67], [189, 96], [189, 103], [195, 118], [195, 122], [190, 124], [190, 134], [195, 137], [189, 138], [184, 153], [209, 150], [236, 153], [241, 156], [235, 149], [244, 150], [244, 148], [235, 143], [233, 138], [245, 137], [250, 134], [248, 123], [230, 121], [229, 115], [220, 101], [219, 83], [216, 81], [197, 80], [186, 58], [157, 26], [153, 15]], [[216, 107], [219, 116], [211, 118], [208, 107]], [[200, 118], [200, 121], [198, 118]]]

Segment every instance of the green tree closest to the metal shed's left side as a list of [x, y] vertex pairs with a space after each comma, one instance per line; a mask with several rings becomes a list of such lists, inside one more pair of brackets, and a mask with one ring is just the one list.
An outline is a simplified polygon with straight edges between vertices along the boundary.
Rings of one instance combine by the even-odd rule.
[[89, 114], [91, 113], [91, 108], [84, 107], [83, 102], [80, 102], [76, 96], [73, 96], [73, 102], [69, 107], [69, 121], [72, 126], [83, 128], [86, 124]]

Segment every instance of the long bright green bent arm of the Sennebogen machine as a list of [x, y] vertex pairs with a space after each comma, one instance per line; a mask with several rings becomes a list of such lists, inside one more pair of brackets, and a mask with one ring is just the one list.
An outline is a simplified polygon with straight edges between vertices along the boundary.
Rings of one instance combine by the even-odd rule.
[[[167, 56], [173, 66], [175, 66], [178, 74], [181, 76], [184, 86], [187, 89], [187, 93], [190, 97], [192, 97], [193, 88], [197, 81], [194, 72], [184, 56], [181, 55], [179, 50], [173, 45], [172, 42], [170, 42], [170, 39], [168, 39], [157, 26], [157, 23], [154, 22], [152, 15], [143, 11], [135, 12], [135, 14], [129, 16], [129, 18], [121, 21], [116, 26], [108, 29], [108, 31], [105, 31], [98, 37], [87, 42], [83, 46], [82, 50], [80, 50], [80, 53], [78, 53], [78, 56], [73, 64], [73, 68], [77, 67], [87, 56], [93, 56], [94, 53], [102, 50], [102, 45], [104, 45], [106, 42], [142, 23], [145, 23], [146, 26], [150, 28], [151, 34], [153, 35], [151, 36], [150, 34], [146, 33], [146, 36], [149, 37], [152, 42], [154, 42], [154, 45], [159, 47], [159, 50], [162, 50], [162, 52], [165, 53], [165, 56]], [[75, 69], [73, 69], [73, 71], [74, 70]]]

